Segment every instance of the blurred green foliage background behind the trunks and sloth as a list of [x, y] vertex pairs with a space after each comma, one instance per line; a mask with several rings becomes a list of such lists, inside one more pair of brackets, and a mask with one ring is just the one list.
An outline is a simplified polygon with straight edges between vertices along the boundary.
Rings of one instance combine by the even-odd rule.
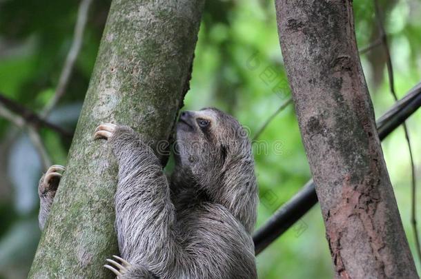
[[[402, 97], [421, 74], [421, 3], [380, 1], [391, 45], [395, 86]], [[106, 21], [110, 1], [95, 1], [84, 43], [66, 96], [49, 118], [75, 127]], [[0, 1], [0, 92], [34, 111], [52, 96], [72, 41], [77, 1]], [[358, 45], [378, 38], [373, 2], [353, 1]], [[362, 55], [362, 65], [377, 116], [393, 104], [381, 48]], [[233, 114], [253, 137], [288, 99], [273, 1], [209, 0], [195, 53], [186, 109], [215, 106]], [[310, 106], [311, 104], [309, 104]], [[421, 112], [408, 121], [415, 168], [421, 169]], [[70, 142], [41, 129], [54, 163], [66, 164]], [[261, 203], [257, 226], [297, 192], [311, 173], [293, 106], [277, 115], [253, 143]], [[414, 250], [410, 226], [409, 154], [402, 129], [383, 143], [384, 156]], [[0, 278], [25, 278], [39, 238], [37, 154], [23, 133], [0, 118]], [[420, 183], [418, 183], [420, 184]], [[420, 200], [418, 194], [417, 200]], [[417, 210], [421, 215], [420, 207]], [[415, 256], [418, 268], [419, 259]], [[257, 257], [260, 278], [331, 278], [331, 258], [320, 208]]]

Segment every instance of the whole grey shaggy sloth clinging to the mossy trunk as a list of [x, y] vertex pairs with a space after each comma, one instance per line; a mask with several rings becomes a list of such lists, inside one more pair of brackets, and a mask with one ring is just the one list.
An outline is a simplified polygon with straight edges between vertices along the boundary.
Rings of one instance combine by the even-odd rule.
[[[251, 143], [233, 116], [215, 108], [182, 112], [166, 176], [150, 145], [130, 127], [106, 123], [118, 163], [115, 229], [120, 256], [104, 267], [117, 278], [257, 278], [251, 234], [257, 184]], [[64, 167], [39, 183], [46, 222]]]

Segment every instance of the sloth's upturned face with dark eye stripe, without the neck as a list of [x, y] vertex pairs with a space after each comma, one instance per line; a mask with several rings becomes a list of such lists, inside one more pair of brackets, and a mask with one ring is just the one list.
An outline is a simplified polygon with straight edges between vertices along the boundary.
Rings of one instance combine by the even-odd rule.
[[237, 156], [251, 153], [242, 126], [215, 108], [182, 112], [177, 123], [177, 167], [203, 185], [216, 181]]

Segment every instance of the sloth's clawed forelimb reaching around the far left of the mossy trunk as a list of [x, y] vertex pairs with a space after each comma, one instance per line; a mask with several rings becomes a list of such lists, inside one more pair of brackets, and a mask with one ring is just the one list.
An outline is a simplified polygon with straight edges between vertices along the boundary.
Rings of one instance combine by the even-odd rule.
[[52, 165], [48, 168], [47, 172], [41, 176], [38, 185], [38, 196], [39, 196], [39, 228], [43, 230], [46, 225], [48, 215], [50, 215], [50, 209], [52, 201], [54, 200], [57, 188], [59, 187], [61, 173], [66, 168], [62, 165]]

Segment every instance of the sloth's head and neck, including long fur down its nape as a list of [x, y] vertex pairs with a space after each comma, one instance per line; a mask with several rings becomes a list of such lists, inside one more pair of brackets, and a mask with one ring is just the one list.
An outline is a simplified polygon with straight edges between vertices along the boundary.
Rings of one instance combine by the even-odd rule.
[[257, 206], [253, 154], [248, 135], [235, 118], [215, 108], [182, 112], [175, 162], [177, 180], [184, 187], [197, 187], [217, 199], [248, 232], [253, 231]]

